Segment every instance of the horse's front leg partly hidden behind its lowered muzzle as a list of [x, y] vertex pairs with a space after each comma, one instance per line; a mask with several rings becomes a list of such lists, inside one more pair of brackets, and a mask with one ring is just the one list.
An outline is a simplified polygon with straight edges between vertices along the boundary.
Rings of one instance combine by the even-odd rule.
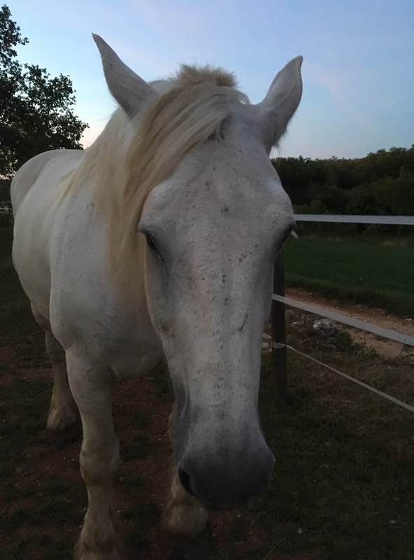
[[[177, 407], [173, 405], [169, 417], [169, 437], [172, 440], [176, 428]], [[169, 498], [162, 515], [164, 528], [178, 537], [178, 553], [189, 560], [208, 557], [211, 545], [207, 538], [208, 513], [197, 498], [183, 489], [178, 479], [176, 465], [169, 490]]]

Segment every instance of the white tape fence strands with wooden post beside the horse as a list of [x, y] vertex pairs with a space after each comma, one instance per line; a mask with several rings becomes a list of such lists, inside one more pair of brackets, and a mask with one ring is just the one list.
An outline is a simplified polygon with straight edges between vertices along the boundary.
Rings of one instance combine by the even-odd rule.
[[[324, 222], [324, 223], [367, 223], [367, 224], [383, 224], [383, 225], [414, 225], [414, 216], [337, 216], [328, 214], [297, 214], [295, 216], [297, 221], [307, 222]], [[316, 307], [304, 302], [293, 300], [292, 298], [285, 297], [285, 262], [283, 251], [280, 252], [276, 259], [275, 268], [273, 272], [273, 302], [271, 309], [271, 348], [272, 348], [272, 369], [273, 369], [273, 384], [275, 388], [275, 395], [277, 402], [285, 402], [287, 398], [287, 349], [294, 351], [299, 355], [313, 360], [313, 362], [327, 367], [329, 370], [335, 372], [341, 377], [345, 377], [363, 388], [380, 395], [387, 400], [394, 402], [394, 404], [403, 407], [404, 409], [414, 412], [414, 407], [407, 402], [403, 402], [392, 395], [387, 395], [383, 391], [370, 386], [363, 381], [359, 381], [355, 377], [351, 377], [340, 370], [337, 370], [330, 365], [327, 365], [320, 360], [316, 360], [312, 356], [301, 352], [286, 343], [286, 326], [285, 326], [285, 305], [296, 307], [303, 311], [308, 311], [313, 314], [330, 318], [331, 320], [338, 321], [345, 325], [350, 325], [354, 328], [371, 332], [375, 335], [414, 346], [414, 336], [404, 335], [401, 332], [382, 328], [378, 325], [358, 321], [355, 318], [348, 317], [342, 314], [333, 313], [322, 307]]]

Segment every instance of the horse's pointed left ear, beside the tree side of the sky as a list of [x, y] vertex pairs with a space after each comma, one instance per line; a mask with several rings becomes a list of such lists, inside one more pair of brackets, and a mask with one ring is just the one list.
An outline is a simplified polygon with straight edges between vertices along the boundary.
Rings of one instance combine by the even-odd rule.
[[103, 38], [94, 33], [92, 33], [92, 37], [101, 53], [103, 73], [110, 93], [129, 117], [134, 117], [145, 102], [157, 93], [153, 87], [122, 62], [108, 43], [103, 41]]

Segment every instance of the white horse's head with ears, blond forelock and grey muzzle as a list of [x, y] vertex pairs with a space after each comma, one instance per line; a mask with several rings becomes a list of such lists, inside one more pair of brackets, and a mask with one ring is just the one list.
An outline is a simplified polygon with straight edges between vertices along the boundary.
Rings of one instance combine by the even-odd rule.
[[258, 414], [262, 328], [294, 215], [269, 153], [299, 105], [301, 57], [252, 105], [213, 69], [145, 83], [95, 40], [151, 162], [130, 152], [129, 188], [152, 181], [129, 227], [145, 244], [145, 298], [173, 381], [180, 482], [234, 507], [265, 488], [274, 463]]

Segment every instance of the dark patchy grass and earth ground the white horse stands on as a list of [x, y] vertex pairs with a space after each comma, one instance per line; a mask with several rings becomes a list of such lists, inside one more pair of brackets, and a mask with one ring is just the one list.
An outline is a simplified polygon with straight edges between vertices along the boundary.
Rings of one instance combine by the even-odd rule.
[[[10, 229], [0, 229], [0, 556], [69, 560], [87, 504], [80, 442], [55, 447], [45, 433], [51, 370], [11, 264], [11, 240]], [[288, 259], [297, 243], [289, 242]], [[407, 358], [367, 353], [348, 332], [329, 344], [305, 326], [287, 332], [298, 349], [414, 403]], [[300, 356], [290, 353], [288, 364], [285, 407], [273, 405], [269, 358], [262, 364], [259, 408], [276, 456], [271, 487], [239, 510], [212, 514], [212, 559], [413, 560], [414, 414]], [[172, 400], [162, 371], [115, 391], [122, 458], [114, 503], [131, 559], [173, 558], [159, 528]]]

